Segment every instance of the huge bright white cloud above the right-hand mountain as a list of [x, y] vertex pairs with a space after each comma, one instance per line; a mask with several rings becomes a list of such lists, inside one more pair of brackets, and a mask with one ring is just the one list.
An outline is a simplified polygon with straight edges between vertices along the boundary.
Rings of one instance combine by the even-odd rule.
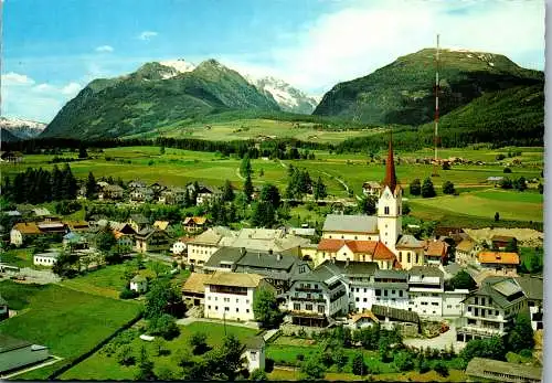
[[284, 79], [320, 92], [432, 47], [437, 33], [445, 47], [500, 53], [522, 66], [544, 63], [542, 1], [358, 1], [309, 22], [270, 54]]

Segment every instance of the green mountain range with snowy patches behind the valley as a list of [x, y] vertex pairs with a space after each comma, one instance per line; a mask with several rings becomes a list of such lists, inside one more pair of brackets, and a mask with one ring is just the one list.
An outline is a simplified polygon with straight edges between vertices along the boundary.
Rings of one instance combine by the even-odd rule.
[[[318, 105], [280, 79], [242, 75], [215, 60], [198, 66], [184, 60], [150, 62], [128, 75], [91, 82], [41, 137], [136, 137], [229, 111], [235, 118], [267, 111], [285, 119], [289, 113], [312, 110], [320, 118], [405, 125], [422, 132], [435, 115], [436, 54], [424, 49], [401, 56], [367, 76], [337, 84]], [[455, 135], [471, 129], [476, 132], [469, 139], [478, 142], [520, 127], [529, 138], [542, 140], [543, 72], [522, 68], [500, 54], [466, 50], [442, 50], [438, 72], [443, 126], [453, 127]]]

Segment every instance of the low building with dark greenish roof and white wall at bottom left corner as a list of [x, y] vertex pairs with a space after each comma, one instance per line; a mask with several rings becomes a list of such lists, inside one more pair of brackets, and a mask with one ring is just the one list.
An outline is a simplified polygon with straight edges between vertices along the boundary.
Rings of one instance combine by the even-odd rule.
[[0, 333], [0, 373], [35, 364], [49, 358], [47, 347]]

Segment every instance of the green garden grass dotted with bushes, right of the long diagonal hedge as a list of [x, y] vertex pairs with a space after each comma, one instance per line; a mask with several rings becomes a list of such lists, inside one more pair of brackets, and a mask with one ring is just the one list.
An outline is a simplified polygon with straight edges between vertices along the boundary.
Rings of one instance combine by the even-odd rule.
[[[140, 334], [136, 329], [129, 329], [127, 332], [131, 333], [134, 340], [129, 343], [134, 354], [138, 358], [141, 345], [146, 347], [148, 355], [155, 363], [156, 373], [161, 368], [168, 368], [174, 373], [178, 373], [179, 368], [172, 360], [173, 354], [179, 349], [190, 349], [189, 339], [195, 332], [204, 332], [208, 334], [208, 344], [211, 348], [216, 348], [222, 344], [224, 338], [224, 326], [206, 322], [194, 322], [189, 326], [180, 327], [180, 336], [171, 341], [166, 342], [166, 348], [170, 350], [170, 354], [156, 357], [153, 352], [153, 344], [145, 342], [138, 338]], [[243, 327], [226, 326], [226, 333], [236, 336], [242, 342], [256, 334], [256, 330]], [[107, 345], [108, 347], [108, 345]], [[64, 374], [62, 380], [132, 380], [137, 366], [121, 366], [117, 363], [116, 357], [107, 357], [103, 350], [95, 353], [87, 360], [72, 368]]]

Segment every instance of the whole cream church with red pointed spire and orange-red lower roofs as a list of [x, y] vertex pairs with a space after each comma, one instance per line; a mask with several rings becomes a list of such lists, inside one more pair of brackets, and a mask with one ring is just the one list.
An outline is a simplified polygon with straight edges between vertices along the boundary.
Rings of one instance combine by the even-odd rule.
[[402, 233], [402, 188], [390, 139], [376, 215], [328, 214], [315, 265], [325, 260], [375, 262], [381, 269], [425, 265], [424, 243]]

